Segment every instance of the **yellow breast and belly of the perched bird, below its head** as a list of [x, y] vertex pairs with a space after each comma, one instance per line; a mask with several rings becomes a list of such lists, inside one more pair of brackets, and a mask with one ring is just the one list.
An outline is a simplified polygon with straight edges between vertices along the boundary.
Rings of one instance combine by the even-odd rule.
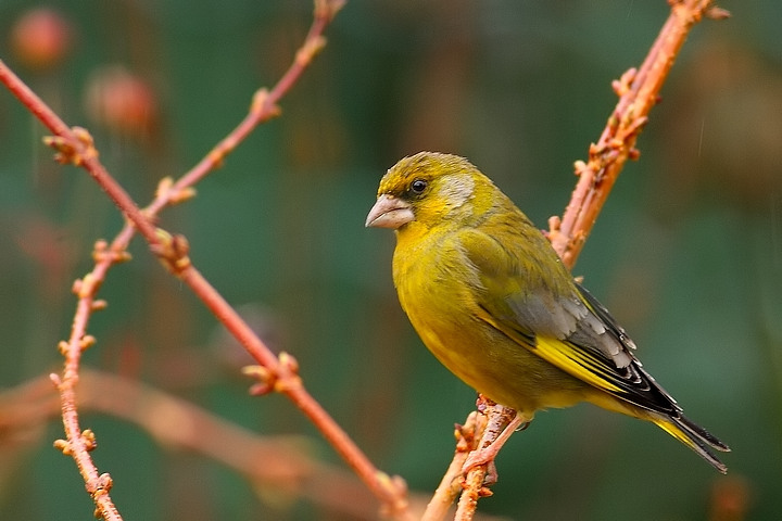
[[529, 418], [537, 409], [583, 399], [580, 382], [481, 318], [483, 288], [459, 232], [420, 226], [398, 232], [393, 278], [402, 308], [429, 351], [465, 383]]

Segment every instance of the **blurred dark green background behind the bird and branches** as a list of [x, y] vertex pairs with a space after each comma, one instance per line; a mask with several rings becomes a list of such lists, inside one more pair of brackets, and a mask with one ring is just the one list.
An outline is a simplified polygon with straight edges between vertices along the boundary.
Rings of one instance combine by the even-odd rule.
[[[619, 179], [575, 274], [688, 416], [733, 448], [730, 473], [653, 425], [579, 406], [540, 414], [512, 439], [482, 512], [782, 514], [782, 5], [720, 5], [733, 17], [694, 29], [639, 141], [641, 161]], [[305, 0], [54, 1], [70, 47], [41, 63], [14, 36], [37, 7], [0, 2], [0, 58], [68, 124], [90, 129], [140, 204], [225, 136], [256, 88], [274, 85], [312, 13]], [[575, 186], [572, 162], [585, 158], [614, 107], [610, 80], [640, 64], [667, 13], [663, 0], [350, 1], [282, 117], [161, 224], [185, 233], [223, 295], [298, 358], [308, 389], [370, 458], [429, 494], [475, 394], [429, 355], [399, 308], [393, 237], [364, 228], [378, 180], [403, 155], [457, 153], [545, 228]], [[52, 163], [43, 135], [0, 92], [0, 518], [89, 519], [73, 461], [52, 448], [63, 434], [51, 407], [12, 409], [29, 393], [53, 396], [48, 383], [23, 385], [60, 370], [72, 281], [122, 218], [84, 171]], [[342, 467], [283, 398], [248, 395], [241, 350], [141, 241], [130, 250], [134, 260], [112, 269], [101, 291], [109, 308], [92, 319], [98, 344], [85, 366], [253, 433], [304, 435], [313, 458]], [[83, 427], [97, 433], [93, 456], [112, 474], [125, 519], [354, 519], [300, 496], [301, 483], [251, 484], [209, 456], [160, 443], [111, 414], [121, 393], [102, 391], [109, 410], [87, 408]], [[164, 432], [188, 428], [156, 414], [144, 418]], [[339, 488], [332, 496], [358, 500]]]

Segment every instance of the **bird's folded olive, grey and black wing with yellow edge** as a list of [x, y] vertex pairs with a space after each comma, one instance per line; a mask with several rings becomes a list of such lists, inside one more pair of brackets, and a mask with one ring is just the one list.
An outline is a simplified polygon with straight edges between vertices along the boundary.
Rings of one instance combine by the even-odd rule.
[[525, 262], [522, 244], [499, 244], [475, 233], [466, 246], [481, 274], [479, 318], [520, 347], [617, 398], [667, 415], [680, 410], [633, 356], [635, 345], [625, 330], [585, 290], [577, 284], [569, 284], [569, 291], [552, 287], [556, 277]]

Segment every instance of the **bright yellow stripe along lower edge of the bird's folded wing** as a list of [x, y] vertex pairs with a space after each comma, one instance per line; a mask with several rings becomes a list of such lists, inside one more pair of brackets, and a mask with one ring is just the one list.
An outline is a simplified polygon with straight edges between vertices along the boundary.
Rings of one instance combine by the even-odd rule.
[[562, 340], [535, 336], [533, 353], [552, 363], [559, 369], [572, 374], [590, 385], [610, 393], [625, 394], [622, 387], [610, 382], [611, 373], [604, 363], [582, 350], [578, 350]]

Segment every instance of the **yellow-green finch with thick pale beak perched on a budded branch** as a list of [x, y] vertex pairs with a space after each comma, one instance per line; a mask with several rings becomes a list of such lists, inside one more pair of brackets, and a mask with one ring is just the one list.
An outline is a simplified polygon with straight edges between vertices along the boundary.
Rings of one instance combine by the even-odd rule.
[[682, 415], [543, 233], [467, 160], [420, 152], [380, 181], [367, 227], [396, 233], [402, 308], [465, 383], [517, 410], [590, 402], [648, 420], [724, 473], [730, 448]]

